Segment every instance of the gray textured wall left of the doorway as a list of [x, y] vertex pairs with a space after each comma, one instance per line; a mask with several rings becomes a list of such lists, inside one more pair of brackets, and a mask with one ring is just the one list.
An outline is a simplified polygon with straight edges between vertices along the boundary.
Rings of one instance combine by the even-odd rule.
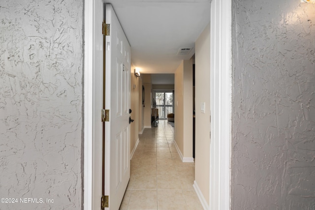
[[0, 1], [0, 210], [81, 209], [82, 21], [83, 0]]

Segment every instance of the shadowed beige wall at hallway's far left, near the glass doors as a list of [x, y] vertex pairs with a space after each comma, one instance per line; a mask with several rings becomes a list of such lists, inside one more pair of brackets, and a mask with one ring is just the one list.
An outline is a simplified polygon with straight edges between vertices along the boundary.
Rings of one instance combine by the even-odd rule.
[[151, 127], [151, 92], [152, 83], [150, 74], [141, 74], [142, 85], [144, 86], [144, 127]]

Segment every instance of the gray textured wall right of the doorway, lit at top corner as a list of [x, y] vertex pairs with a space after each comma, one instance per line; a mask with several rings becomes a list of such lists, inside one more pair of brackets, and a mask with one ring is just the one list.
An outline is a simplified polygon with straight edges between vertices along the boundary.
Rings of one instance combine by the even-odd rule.
[[315, 209], [315, 4], [232, 0], [233, 210]]

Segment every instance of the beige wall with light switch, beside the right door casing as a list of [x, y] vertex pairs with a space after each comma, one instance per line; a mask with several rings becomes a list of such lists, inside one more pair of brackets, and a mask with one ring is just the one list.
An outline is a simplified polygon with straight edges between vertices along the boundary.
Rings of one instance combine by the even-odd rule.
[[[210, 23], [195, 43], [195, 181], [209, 204], [210, 176]], [[205, 113], [201, 103], [205, 102]]]

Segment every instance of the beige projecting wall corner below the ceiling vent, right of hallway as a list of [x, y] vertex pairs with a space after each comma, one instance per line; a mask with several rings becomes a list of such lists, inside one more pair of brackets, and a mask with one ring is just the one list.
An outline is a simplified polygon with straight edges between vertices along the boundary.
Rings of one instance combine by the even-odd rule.
[[175, 72], [175, 142], [186, 158], [192, 160], [192, 60], [183, 60]]

